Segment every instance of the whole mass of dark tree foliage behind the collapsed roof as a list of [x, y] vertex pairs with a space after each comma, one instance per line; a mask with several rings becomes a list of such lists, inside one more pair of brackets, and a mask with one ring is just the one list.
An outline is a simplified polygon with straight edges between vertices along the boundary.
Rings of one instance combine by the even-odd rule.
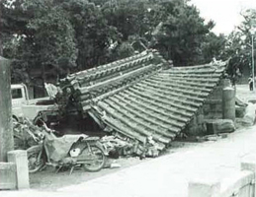
[[223, 48], [224, 37], [211, 32], [213, 22], [206, 24], [184, 0], [3, 0], [1, 5], [4, 55], [17, 60], [20, 73], [51, 65], [67, 74], [149, 47], [175, 65], [193, 65], [220, 57]]

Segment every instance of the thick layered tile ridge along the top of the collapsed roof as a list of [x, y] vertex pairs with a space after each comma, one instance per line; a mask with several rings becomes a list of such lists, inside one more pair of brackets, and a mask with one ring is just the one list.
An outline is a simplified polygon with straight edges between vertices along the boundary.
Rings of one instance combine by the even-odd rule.
[[110, 97], [168, 65], [157, 50], [148, 49], [93, 70], [69, 75], [62, 80], [62, 88], [71, 88], [76, 105], [85, 114], [98, 97]]

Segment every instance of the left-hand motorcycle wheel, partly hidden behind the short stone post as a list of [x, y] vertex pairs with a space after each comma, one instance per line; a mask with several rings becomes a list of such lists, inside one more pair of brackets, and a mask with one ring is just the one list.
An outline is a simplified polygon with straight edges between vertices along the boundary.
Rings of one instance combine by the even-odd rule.
[[33, 146], [27, 150], [30, 173], [35, 173], [43, 167], [44, 162], [41, 156], [42, 149], [42, 146]]

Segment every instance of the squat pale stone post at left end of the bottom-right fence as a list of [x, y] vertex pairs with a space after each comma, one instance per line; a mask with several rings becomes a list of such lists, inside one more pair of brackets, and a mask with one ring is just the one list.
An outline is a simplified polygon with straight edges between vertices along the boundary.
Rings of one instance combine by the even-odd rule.
[[218, 180], [192, 180], [189, 182], [188, 197], [216, 197], [220, 192]]

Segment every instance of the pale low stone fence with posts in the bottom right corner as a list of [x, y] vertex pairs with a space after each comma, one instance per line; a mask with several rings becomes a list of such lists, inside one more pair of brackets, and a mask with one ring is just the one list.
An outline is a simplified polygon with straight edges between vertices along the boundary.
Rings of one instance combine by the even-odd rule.
[[189, 182], [188, 197], [256, 197], [256, 160], [247, 158], [241, 163], [241, 170], [219, 180], [204, 179]]

